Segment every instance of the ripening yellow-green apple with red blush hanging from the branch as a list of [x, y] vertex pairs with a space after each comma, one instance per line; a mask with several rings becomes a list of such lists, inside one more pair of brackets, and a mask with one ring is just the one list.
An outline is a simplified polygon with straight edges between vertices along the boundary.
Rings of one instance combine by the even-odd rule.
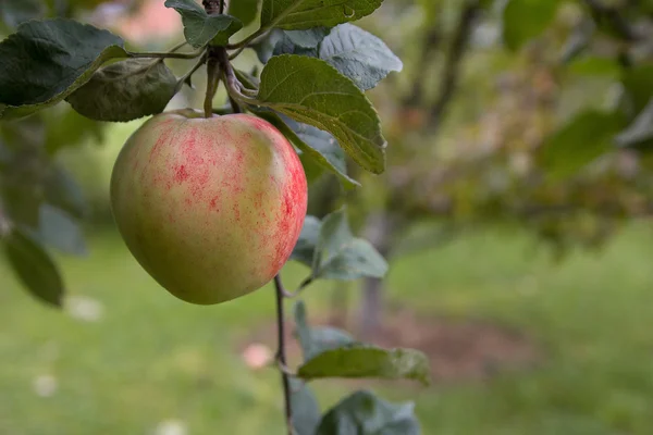
[[162, 287], [220, 303], [262, 287], [287, 261], [306, 215], [306, 175], [264, 120], [167, 112], [121, 150], [111, 207], [128, 249]]

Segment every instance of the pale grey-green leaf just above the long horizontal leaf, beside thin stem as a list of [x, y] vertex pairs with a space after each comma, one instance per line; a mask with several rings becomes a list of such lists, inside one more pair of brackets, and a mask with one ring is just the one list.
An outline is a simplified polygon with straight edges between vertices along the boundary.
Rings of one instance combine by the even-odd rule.
[[295, 304], [295, 323], [304, 361], [309, 361], [326, 350], [338, 349], [355, 343], [349, 334], [335, 327], [309, 327], [306, 321], [306, 304], [304, 301], [298, 301]]

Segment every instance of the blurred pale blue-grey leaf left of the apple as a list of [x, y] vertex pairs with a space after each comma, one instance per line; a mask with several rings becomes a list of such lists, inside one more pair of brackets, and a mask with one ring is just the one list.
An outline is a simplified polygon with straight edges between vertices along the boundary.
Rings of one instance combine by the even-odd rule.
[[64, 253], [79, 257], [88, 253], [79, 224], [50, 204], [40, 207], [38, 234], [44, 244]]

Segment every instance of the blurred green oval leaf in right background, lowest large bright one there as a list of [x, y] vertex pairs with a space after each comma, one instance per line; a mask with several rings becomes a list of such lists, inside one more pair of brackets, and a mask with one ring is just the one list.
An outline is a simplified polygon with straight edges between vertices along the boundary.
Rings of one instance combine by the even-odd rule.
[[571, 176], [600, 156], [612, 151], [614, 136], [623, 127], [624, 117], [620, 113], [580, 113], [542, 144], [542, 166], [552, 178]]

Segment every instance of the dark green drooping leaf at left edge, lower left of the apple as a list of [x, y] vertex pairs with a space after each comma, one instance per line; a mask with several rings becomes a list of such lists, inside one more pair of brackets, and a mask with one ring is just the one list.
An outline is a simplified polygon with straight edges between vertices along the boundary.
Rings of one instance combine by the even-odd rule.
[[16, 227], [2, 241], [10, 265], [27, 290], [46, 303], [61, 307], [63, 282], [50, 256]]

